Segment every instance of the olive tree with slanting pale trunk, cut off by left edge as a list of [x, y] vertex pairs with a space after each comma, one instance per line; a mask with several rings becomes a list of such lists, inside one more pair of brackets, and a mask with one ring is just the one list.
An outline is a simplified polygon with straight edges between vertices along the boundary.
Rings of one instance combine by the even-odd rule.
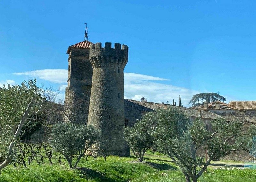
[[12, 149], [19, 140], [24, 123], [33, 119], [40, 109], [42, 93], [42, 89], [36, 86], [36, 79], [0, 88], [0, 157], [4, 159], [0, 173], [12, 160]]

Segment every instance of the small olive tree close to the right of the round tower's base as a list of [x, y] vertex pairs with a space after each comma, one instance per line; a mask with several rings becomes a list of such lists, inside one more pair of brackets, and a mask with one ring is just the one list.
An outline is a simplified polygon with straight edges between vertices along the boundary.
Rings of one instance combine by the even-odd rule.
[[[153, 113], [151, 113], [153, 114]], [[149, 120], [151, 117], [150, 114], [142, 118], [142, 120]], [[144, 121], [137, 121], [132, 127], [124, 127], [124, 139], [129, 147], [132, 149], [133, 154], [138, 158], [139, 162], [142, 162], [144, 159], [145, 152], [153, 145], [153, 138], [144, 133], [141, 128], [144, 128], [144, 131], [151, 129], [151, 123]]]

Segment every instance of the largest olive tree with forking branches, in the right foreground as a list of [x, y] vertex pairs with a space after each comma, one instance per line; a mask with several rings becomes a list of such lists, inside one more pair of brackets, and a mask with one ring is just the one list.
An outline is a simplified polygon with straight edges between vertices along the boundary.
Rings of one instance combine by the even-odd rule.
[[[186, 113], [171, 106], [156, 110], [153, 120], [148, 121], [150, 122], [152, 130], [144, 132], [154, 138], [158, 149], [169, 155], [180, 167], [186, 181], [192, 179], [196, 182], [214, 158], [223, 157], [240, 147], [234, 141], [241, 136], [242, 123], [236, 120], [212, 120], [214, 132], [211, 132], [205, 129], [205, 124], [200, 119], [190, 122]], [[196, 155], [200, 147], [207, 148], [208, 151], [209, 158], [205, 163], [203, 158]]]

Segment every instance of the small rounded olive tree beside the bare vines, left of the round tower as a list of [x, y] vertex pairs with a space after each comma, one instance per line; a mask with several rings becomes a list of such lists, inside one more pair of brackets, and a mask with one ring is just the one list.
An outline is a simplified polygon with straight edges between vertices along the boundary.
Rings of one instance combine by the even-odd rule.
[[[85, 152], [100, 138], [100, 131], [91, 125], [70, 122], [55, 124], [52, 128], [51, 145], [65, 156], [70, 168], [76, 168]], [[73, 158], [77, 156], [75, 164]]]

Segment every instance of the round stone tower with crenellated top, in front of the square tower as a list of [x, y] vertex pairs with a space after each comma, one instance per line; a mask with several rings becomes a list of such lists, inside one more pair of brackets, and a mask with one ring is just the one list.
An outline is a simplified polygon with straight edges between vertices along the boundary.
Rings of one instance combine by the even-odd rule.
[[115, 43], [90, 45], [93, 67], [92, 91], [88, 125], [98, 128], [102, 135], [90, 153], [92, 155], [127, 155], [124, 127], [124, 67], [128, 61], [128, 47]]

